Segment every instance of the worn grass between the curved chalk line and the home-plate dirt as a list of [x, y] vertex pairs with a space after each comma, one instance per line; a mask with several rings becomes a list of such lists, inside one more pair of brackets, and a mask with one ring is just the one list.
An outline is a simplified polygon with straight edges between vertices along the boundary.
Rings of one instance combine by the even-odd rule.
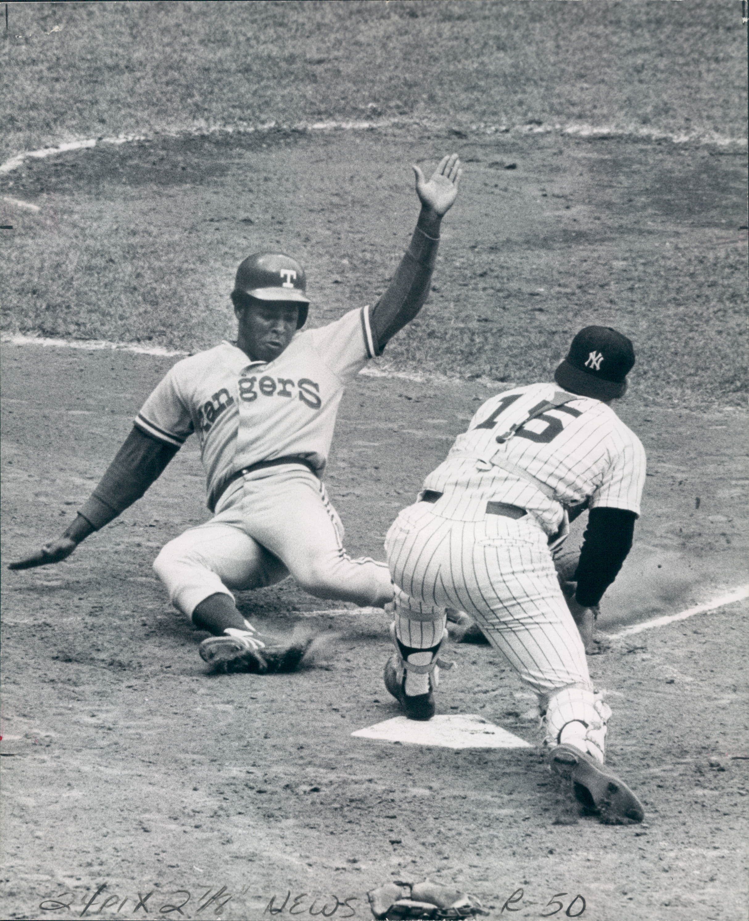
[[[202, 348], [233, 333], [236, 264], [268, 248], [305, 264], [311, 321], [334, 319], [385, 289], [418, 210], [408, 164], [444, 145], [275, 132], [29, 161], [11, 191], [40, 211], [5, 205], [3, 328]], [[530, 382], [598, 323], [635, 341], [643, 400], [741, 399], [742, 157], [551, 136], [460, 153], [432, 297], [386, 366]]]

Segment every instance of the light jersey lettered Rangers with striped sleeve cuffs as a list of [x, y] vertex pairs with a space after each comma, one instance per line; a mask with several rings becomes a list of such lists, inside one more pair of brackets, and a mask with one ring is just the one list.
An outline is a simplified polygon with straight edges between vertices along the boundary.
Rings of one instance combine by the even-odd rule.
[[135, 425], [178, 446], [195, 432], [209, 495], [233, 472], [288, 455], [322, 472], [345, 384], [374, 354], [368, 307], [297, 332], [267, 363], [224, 342], [172, 367]]

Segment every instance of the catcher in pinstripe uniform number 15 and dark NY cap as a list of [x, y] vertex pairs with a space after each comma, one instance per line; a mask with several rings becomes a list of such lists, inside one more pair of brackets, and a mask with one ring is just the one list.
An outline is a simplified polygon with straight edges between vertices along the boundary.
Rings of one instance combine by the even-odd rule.
[[[601, 599], [640, 515], [645, 452], [610, 406], [634, 361], [620, 333], [578, 332], [556, 383], [518, 387], [478, 409], [386, 537], [397, 587], [386, 686], [407, 716], [432, 717], [444, 609], [467, 612], [538, 694], [552, 769], [585, 805], [620, 822], [640, 822], [643, 810], [603, 766], [610, 710], [593, 691], [570, 610]], [[566, 601], [552, 549], [583, 503], [588, 527]]]

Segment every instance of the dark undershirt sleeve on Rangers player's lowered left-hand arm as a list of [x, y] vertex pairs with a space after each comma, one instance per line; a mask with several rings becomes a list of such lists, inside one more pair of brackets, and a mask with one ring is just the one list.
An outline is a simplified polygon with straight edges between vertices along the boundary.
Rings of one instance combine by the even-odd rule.
[[103, 528], [144, 495], [178, 451], [176, 445], [167, 445], [133, 426], [78, 514], [94, 529]]

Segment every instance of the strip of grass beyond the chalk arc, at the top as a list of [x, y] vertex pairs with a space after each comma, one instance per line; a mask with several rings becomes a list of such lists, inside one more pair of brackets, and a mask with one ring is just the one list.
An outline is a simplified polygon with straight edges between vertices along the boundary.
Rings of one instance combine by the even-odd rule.
[[214, 124], [402, 118], [745, 134], [741, 5], [11, 3], [0, 153]]

